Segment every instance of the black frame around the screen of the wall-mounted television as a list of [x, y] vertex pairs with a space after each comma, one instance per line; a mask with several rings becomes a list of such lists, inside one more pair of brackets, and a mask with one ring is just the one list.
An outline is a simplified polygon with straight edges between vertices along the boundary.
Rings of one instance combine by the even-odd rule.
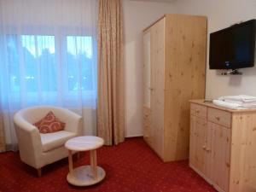
[[[241, 27], [241, 26], [245, 26], [245, 25], [253, 25], [253, 43], [252, 43], [252, 46], [253, 46], [253, 49], [252, 49], [252, 52], [251, 52], [251, 59], [250, 61], [246, 61], [246, 62], [232, 62], [230, 63], [230, 67], [227, 67], [225, 66], [225, 64], [223, 63], [223, 65], [221, 67], [216, 67], [218, 65], [212, 65], [211, 61], [212, 61], [212, 47], [211, 47], [211, 39], [212, 39], [212, 36], [215, 35], [215, 34], [218, 34], [220, 32], [229, 32], [229, 31], [232, 31], [234, 29], [236, 29], [237, 27]], [[254, 67], [254, 62], [255, 62], [255, 51], [256, 51], [256, 48], [255, 48], [255, 40], [256, 40], [256, 20], [247, 20], [245, 22], [242, 22], [241, 24], [236, 24], [234, 26], [230, 26], [230, 27], [227, 27], [227, 28], [224, 28], [222, 30], [219, 30], [218, 32], [212, 32], [210, 33], [210, 45], [209, 45], [209, 67], [210, 69], [238, 69], [238, 68], [247, 68], [247, 67]]]

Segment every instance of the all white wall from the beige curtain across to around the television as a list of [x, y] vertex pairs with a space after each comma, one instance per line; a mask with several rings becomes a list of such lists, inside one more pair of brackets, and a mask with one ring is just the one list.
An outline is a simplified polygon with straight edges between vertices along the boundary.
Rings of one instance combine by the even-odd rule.
[[[207, 15], [208, 32], [256, 18], [256, 0], [177, 0], [175, 3], [123, 0], [123, 6], [126, 137], [143, 135], [143, 28], [168, 13]], [[208, 68], [207, 59], [207, 99], [236, 94], [256, 96], [256, 67], [241, 69], [241, 76], [221, 76]]]

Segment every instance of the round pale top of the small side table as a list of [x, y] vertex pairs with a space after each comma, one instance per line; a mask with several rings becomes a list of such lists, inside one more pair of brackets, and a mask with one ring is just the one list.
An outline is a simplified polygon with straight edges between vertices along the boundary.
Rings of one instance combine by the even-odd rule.
[[104, 140], [101, 137], [82, 136], [73, 137], [65, 143], [65, 147], [73, 151], [88, 151], [102, 147]]

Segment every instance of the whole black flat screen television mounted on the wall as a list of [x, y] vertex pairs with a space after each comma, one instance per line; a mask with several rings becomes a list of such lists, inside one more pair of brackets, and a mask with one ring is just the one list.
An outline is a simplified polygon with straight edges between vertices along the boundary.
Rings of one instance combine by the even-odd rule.
[[248, 20], [210, 34], [210, 69], [253, 67], [256, 20]]

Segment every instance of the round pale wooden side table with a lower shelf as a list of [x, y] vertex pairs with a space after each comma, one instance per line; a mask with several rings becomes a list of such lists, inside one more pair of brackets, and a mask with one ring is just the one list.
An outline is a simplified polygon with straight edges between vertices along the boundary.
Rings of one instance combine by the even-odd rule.
[[[75, 186], [88, 186], [102, 181], [106, 172], [97, 166], [96, 148], [102, 147], [104, 140], [101, 137], [84, 136], [73, 137], [65, 143], [68, 149], [67, 182]], [[73, 169], [72, 151], [90, 151], [90, 165], [79, 166]]]

